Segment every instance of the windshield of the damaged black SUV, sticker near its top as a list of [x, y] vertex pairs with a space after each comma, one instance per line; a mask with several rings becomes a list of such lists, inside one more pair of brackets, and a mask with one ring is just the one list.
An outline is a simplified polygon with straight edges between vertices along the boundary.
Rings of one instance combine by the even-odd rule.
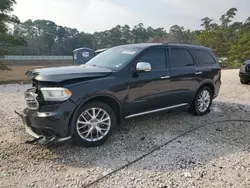
[[89, 60], [86, 65], [107, 67], [112, 70], [119, 70], [126, 66], [138, 53], [140, 48], [118, 46], [100, 53], [93, 59]]

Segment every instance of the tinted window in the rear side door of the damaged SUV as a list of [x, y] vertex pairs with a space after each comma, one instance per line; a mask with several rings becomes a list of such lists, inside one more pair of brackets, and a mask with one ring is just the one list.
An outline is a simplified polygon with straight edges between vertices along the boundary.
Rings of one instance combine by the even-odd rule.
[[194, 59], [187, 49], [172, 48], [170, 57], [171, 67], [187, 67], [194, 65]]

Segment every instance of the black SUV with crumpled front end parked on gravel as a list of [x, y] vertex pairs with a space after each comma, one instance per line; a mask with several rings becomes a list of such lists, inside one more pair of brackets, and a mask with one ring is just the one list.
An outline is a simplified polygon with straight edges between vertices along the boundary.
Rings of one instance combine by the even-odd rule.
[[85, 65], [30, 70], [27, 108], [18, 113], [41, 143], [73, 138], [98, 146], [122, 119], [188, 108], [210, 111], [221, 85], [211, 49], [184, 44], [131, 44], [108, 49]]

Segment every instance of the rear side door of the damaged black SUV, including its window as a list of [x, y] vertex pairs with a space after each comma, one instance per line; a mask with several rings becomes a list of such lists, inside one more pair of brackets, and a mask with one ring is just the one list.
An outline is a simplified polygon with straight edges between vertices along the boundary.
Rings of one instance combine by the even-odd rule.
[[172, 105], [190, 103], [199, 87], [199, 70], [189, 48], [170, 47]]

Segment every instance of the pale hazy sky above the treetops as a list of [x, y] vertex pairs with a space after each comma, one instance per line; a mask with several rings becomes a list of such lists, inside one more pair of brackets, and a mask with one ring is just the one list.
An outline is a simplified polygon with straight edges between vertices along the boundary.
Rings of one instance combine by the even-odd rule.
[[94, 33], [138, 23], [166, 30], [175, 24], [200, 29], [202, 18], [218, 22], [233, 7], [238, 9], [235, 21], [245, 21], [250, 16], [250, 0], [17, 0], [14, 14], [22, 22], [46, 19]]

